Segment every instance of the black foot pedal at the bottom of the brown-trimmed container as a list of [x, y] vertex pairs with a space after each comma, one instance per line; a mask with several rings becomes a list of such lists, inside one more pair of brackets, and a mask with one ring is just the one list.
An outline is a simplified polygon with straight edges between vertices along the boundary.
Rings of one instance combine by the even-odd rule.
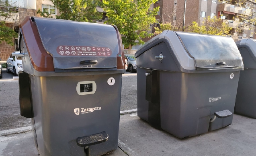
[[95, 144], [106, 142], [109, 139], [109, 135], [106, 132], [100, 132], [92, 134], [90, 136], [82, 136], [76, 138], [76, 143], [81, 147], [88, 147]]

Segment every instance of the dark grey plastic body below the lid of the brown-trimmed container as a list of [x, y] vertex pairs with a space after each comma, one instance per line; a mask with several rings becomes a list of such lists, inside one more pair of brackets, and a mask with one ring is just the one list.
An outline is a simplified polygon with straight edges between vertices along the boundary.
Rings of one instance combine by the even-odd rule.
[[[107, 80], [115, 78], [110, 86]], [[80, 81], [94, 81], [94, 94], [78, 95]], [[109, 139], [89, 147], [91, 156], [101, 156], [118, 147], [122, 74], [94, 76], [31, 76], [33, 133], [41, 156], [86, 156], [76, 138], [105, 131]], [[99, 108], [93, 112], [87, 108]], [[79, 115], [74, 110], [79, 109]], [[82, 109], [83, 108], [83, 109]]]

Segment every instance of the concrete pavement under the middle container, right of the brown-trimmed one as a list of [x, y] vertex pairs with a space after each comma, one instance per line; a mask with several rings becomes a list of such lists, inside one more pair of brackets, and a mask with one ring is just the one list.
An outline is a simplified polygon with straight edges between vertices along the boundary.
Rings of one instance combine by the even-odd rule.
[[120, 116], [119, 142], [129, 156], [255, 156], [256, 120], [234, 114], [225, 128], [181, 140], [127, 114]]

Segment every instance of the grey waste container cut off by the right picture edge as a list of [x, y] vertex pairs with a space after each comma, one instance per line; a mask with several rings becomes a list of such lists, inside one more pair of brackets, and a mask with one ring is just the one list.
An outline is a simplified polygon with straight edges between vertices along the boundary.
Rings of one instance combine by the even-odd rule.
[[240, 72], [235, 113], [256, 118], [256, 40], [242, 39], [236, 45], [243, 57], [244, 70]]

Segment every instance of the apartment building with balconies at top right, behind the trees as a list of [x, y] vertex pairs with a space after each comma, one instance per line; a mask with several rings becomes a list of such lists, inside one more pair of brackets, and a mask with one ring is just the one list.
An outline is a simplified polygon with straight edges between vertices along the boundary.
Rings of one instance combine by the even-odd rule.
[[[254, 28], [247, 26], [240, 28], [240, 31], [237, 29], [244, 25], [244, 23], [239, 21], [240, 16], [248, 16], [252, 11], [256, 11], [250, 9], [248, 3], [241, 3], [242, 1], [226, 0], [219, 2], [219, 0], [186, 0], [185, 26], [190, 25], [194, 21], [202, 24], [205, 17], [210, 16], [213, 18], [213, 16], [217, 16], [232, 27], [228, 36], [232, 37], [235, 41], [243, 38], [256, 39]], [[154, 7], [160, 6], [160, 14], [157, 16], [160, 22], [168, 21], [182, 24], [185, 0], [158, 0], [157, 3], [158, 4], [154, 4]]]

